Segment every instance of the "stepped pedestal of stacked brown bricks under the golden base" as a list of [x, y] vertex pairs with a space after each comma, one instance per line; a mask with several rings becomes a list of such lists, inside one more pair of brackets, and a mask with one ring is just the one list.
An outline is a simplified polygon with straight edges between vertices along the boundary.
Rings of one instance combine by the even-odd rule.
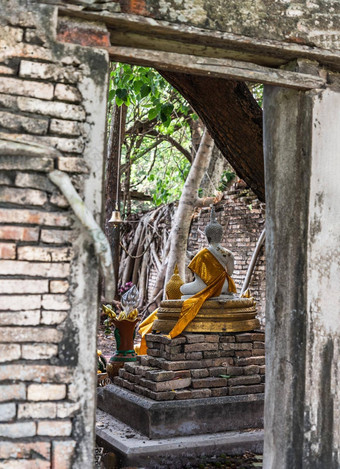
[[156, 401], [261, 394], [264, 333], [146, 336], [148, 354], [126, 363], [117, 386]]

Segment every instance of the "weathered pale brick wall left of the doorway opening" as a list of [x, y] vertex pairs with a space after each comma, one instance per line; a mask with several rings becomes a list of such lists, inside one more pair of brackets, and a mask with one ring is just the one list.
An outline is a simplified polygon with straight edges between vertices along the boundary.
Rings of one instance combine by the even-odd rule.
[[90, 468], [98, 266], [48, 173], [99, 221], [108, 60], [55, 42], [54, 7], [1, 12], [0, 467]]

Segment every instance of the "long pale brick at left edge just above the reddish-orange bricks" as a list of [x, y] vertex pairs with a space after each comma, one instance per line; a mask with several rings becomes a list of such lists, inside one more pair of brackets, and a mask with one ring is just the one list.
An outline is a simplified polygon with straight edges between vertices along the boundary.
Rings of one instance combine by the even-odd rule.
[[0, 208], [0, 219], [2, 223], [18, 223], [19, 220], [20, 223], [51, 227], [69, 227], [73, 222], [69, 215], [58, 212], [6, 208]]

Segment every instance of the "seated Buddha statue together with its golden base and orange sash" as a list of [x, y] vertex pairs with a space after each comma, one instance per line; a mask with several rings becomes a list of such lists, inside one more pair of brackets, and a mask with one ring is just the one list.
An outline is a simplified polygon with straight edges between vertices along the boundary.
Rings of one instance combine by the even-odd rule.
[[[163, 300], [149, 330], [174, 338], [185, 332], [244, 332], [259, 328], [256, 302], [236, 294], [232, 279], [234, 256], [220, 245], [223, 228], [211, 209], [210, 223], [205, 229], [208, 247], [199, 251], [188, 268], [194, 281], [180, 287], [181, 299]], [[177, 297], [178, 298], [178, 297]], [[150, 316], [151, 318], [151, 316]]]

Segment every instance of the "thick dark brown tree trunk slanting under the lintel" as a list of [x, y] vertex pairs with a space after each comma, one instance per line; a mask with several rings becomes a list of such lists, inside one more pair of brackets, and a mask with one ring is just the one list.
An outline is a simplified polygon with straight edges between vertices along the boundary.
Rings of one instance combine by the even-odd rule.
[[191, 104], [236, 173], [264, 201], [262, 110], [245, 83], [159, 72]]

